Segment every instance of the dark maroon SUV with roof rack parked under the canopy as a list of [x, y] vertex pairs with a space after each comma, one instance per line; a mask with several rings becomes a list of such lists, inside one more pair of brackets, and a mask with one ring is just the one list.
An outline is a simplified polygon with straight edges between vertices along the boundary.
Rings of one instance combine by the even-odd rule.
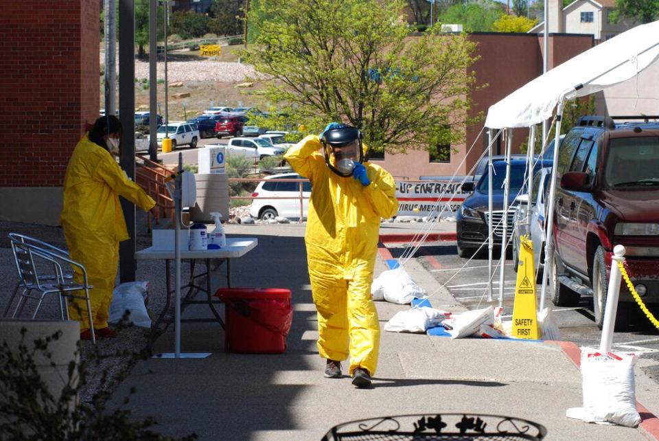
[[[618, 244], [636, 291], [647, 304], [659, 302], [659, 123], [581, 117], [559, 147], [555, 179], [556, 252], [548, 262], [554, 304], [573, 306], [592, 293], [601, 328]], [[618, 327], [634, 317], [632, 302], [623, 282]]]

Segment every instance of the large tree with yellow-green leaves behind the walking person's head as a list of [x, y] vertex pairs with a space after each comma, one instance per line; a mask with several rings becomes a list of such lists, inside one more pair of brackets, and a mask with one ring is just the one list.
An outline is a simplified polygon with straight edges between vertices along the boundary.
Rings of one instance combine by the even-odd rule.
[[462, 142], [472, 122], [475, 43], [438, 27], [410, 36], [404, 4], [259, 1], [262, 10], [251, 8], [248, 18], [260, 32], [242, 56], [264, 82], [270, 114], [288, 115], [306, 133], [351, 124], [380, 152]]

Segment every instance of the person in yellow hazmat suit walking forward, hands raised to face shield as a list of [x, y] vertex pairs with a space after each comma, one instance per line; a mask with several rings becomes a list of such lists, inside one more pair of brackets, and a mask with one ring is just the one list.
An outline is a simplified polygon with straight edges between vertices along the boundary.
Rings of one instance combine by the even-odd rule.
[[369, 387], [380, 346], [371, 282], [380, 220], [398, 210], [393, 177], [367, 162], [362, 134], [345, 124], [328, 124], [284, 157], [312, 184], [305, 244], [325, 376], [341, 378], [349, 356], [353, 385]]

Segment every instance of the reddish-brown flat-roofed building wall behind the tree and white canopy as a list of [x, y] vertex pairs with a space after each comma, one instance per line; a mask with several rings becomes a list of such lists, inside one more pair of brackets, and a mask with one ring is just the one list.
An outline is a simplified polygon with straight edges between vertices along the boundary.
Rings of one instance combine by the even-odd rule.
[[[502, 98], [522, 87], [537, 76], [542, 75], [542, 34], [504, 34], [476, 32], [470, 39], [478, 43], [476, 53], [481, 58], [474, 63], [476, 88], [472, 93], [473, 106], [470, 116], [482, 113], [481, 122], [467, 127], [465, 144], [453, 146], [458, 150], [452, 153], [450, 163], [430, 163], [428, 152], [414, 151], [406, 155], [385, 153], [384, 161], [378, 163], [399, 179], [418, 179], [421, 176], [452, 176], [470, 174], [470, 170], [483, 153], [487, 142], [478, 135], [483, 128], [487, 109]], [[549, 68], [590, 49], [592, 35], [550, 34]], [[486, 87], [483, 87], [485, 86]], [[513, 131], [513, 153], [520, 152], [519, 146], [528, 137], [526, 128]], [[465, 153], [470, 150], [465, 159]], [[496, 146], [494, 150], [496, 154]], [[505, 153], [505, 144], [500, 144], [500, 153]], [[464, 161], [463, 161], [464, 160]]]

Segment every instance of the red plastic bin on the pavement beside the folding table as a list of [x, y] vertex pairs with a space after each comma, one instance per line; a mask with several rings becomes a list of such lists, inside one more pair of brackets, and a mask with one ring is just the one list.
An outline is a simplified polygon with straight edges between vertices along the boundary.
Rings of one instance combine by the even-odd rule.
[[280, 354], [286, 350], [293, 308], [290, 290], [281, 288], [227, 288], [215, 293], [224, 310], [224, 350]]

